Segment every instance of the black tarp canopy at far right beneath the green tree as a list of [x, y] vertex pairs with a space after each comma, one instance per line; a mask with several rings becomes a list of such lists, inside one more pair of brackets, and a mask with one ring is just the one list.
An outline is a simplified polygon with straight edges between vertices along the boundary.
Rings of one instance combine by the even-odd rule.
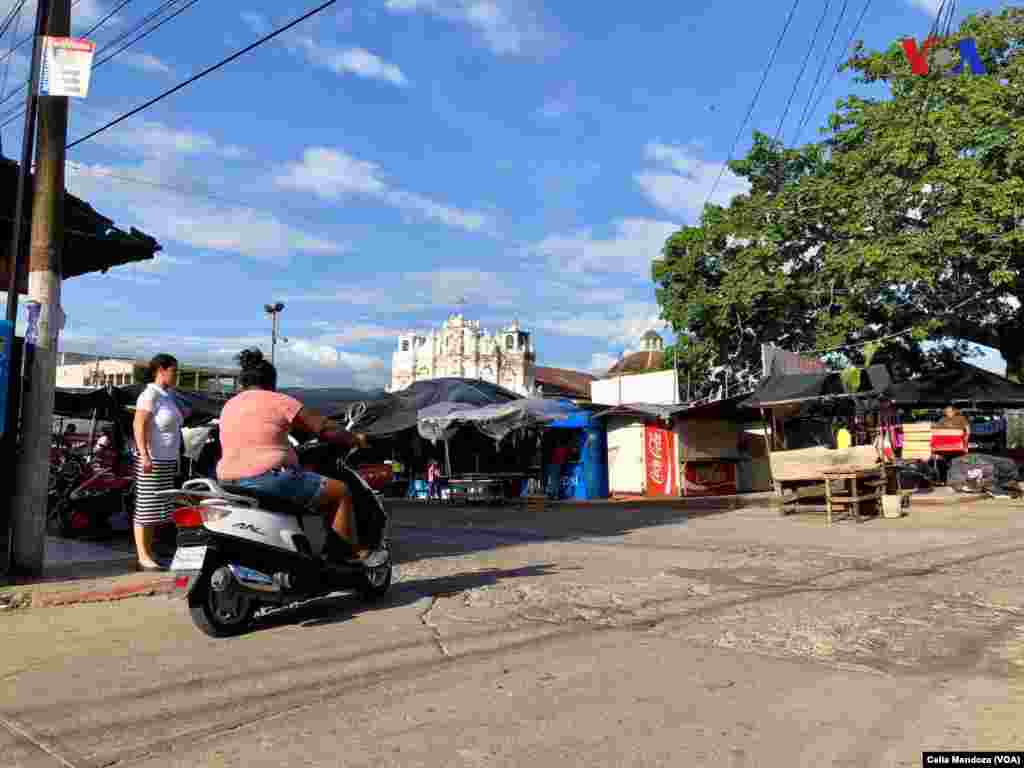
[[947, 364], [919, 379], [894, 384], [886, 396], [902, 408], [942, 408], [950, 402], [1024, 408], [1024, 386], [968, 362]]

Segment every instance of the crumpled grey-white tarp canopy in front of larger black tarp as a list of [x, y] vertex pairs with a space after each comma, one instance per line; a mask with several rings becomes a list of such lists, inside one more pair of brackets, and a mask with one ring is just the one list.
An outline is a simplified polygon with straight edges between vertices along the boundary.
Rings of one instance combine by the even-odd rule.
[[572, 407], [543, 397], [474, 407], [465, 402], [438, 402], [417, 414], [420, 435], [431, 442], [447, 440], [463, 424], [472, 424], [501, 442], [509, 432], [565, 419]]

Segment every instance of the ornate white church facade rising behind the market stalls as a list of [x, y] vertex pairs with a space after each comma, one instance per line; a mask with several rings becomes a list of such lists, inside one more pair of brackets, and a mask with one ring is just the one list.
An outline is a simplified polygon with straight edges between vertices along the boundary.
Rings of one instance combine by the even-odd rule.
[[439, 329], [398, 337], [391, 359], [391, 392], [417, 381], [457, 377], [480, 379], [522, 395], [535, 393], [537, 354], [518, 321], [488, 333], [479, 321], [449, 316]]

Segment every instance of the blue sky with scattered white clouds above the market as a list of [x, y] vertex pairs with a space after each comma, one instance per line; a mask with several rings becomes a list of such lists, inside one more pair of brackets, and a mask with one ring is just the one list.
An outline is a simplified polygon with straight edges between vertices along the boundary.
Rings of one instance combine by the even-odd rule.
[[[102, 49], [159, 4], [129, 3], [91, 39]], [[70, 137], [315, 4], [197, 3], [93, 73]], [[936, 4], [872, 3], [857, 37], [923, 38]], [[82, 0], [75, 31], [115, 5]], [[662, 327], [650, 261], [700, 210], [790, 5], [338, 3], [69, 153], [69, 189], [164, 250], [65, 283], [62, 348], [227, 364], [268, 347], [262, 306], [282, 300], [290, 384], [381, 385], [397, 333], [456, 310], [492, 329], [518, 318], [542, 365], [605, 369]], [[825, 55], [841, 5], [797, 91], [788, 143], [863, 0], [850, 0]], [[801, 3], [737, 155], [752, 130], [775, 132], [822, 8]], [[12, 60], [8, 89], [26, 71]], [[852, 87], [836, 78], [799, 138]], [[6, 154], [19, 142], [16, 121]], [[740, 189], [727, 172], [716, 199]]]

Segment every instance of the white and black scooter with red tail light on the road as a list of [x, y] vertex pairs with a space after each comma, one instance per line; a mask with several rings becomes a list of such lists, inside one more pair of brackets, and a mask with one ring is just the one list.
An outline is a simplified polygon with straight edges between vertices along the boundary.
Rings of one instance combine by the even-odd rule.
[[[366, 412], [348, 413], [349, 431]], [[303, 454], [325, 447], [318, 440], [299, 445]], [[171, 563], [175, 587], [184, 593], [195, 625], [211, 637], [246, 632], [257, 610], [354, 590], [373, 600], [391, 587], [391, 521], [381, 495], [348, 466], [337, 461], [332, 475], [356, 498], [356, 517], [371, 530], [371, 555], [360, 562], [335, 563], [322, 553], [328, 536], [323, 515], [234, 484], [207, 478], [165, 492], [180, 505], [174, 512], [177, 551]], [[361, 507], [359, 505], [362, 505]], [[372, 508], [371, 508], [371, 505]]]

